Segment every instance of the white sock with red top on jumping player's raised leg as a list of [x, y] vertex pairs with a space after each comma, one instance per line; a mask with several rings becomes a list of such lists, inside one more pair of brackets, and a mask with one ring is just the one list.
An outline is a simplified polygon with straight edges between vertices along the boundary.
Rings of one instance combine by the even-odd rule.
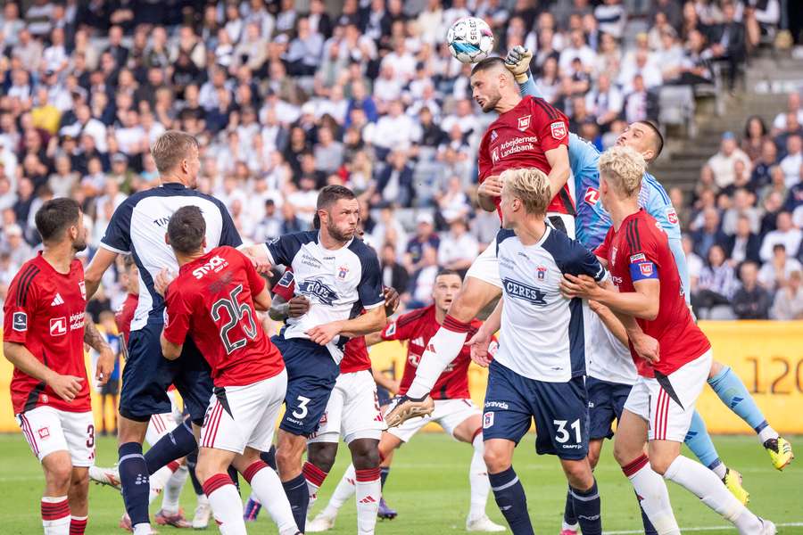
[[457, 358], [470, 328], [470, 323], [446, 315], [443, 325], [426, 344], [426, 350], [418, 362], [416, 377], [407, 391], [409, 398], [423, 398], [432, 390], [446, 366]]

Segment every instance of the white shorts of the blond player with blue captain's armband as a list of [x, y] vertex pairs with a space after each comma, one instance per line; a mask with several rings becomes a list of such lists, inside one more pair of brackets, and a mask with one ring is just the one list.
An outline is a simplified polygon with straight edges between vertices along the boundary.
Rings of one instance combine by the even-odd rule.
[[694, 414], [694, 403], [708, 380], [713, 358], [713, 351], [706, 351], [666, 375], [668, 384], [639, 376], [627, 396], [625, 410], [647, 420], [647, 440], [685, 440]]

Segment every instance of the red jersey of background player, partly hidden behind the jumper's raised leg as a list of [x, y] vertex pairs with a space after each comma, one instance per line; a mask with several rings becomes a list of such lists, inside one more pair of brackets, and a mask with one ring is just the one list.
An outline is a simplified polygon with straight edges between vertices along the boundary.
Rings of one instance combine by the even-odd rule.
[[[475, 319], [471, 322], [471, 331], [468, 338], [471, 338], [479, 329], [483, 322]], [[429, 339], [435, 336], [441, 325], [435, 320], [435, 305], [430, 305], [426, 309], [418, 309], [403, 314], [393, 323], [385, 325], [382, 330], [383, 340], [407, 340], [407, 361], [404, 363], [404, 374], [398, 395], [403, 395], [410, 388], [410, 384], [416, 376], [416, 368], [421, 360], [421, 355], [426, 350]], [[468, 340], [467, 338], [467, 340]], [[495, 352], [495, 338], [492, 353]], [[443, 374], [438, 377], [435, 386], [430, 392], [432, 399], [469, 399], [468, 392], [468, 365], [471, 363], [471, 351], [468, 346], [463, 346], [454, 360], [446, 366]]]

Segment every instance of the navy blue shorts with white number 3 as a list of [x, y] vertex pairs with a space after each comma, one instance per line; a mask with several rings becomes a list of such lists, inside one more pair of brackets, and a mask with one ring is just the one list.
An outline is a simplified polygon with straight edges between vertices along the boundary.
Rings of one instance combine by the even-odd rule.
[[279, 429], [309, 437], [327, 410], [340, 366], [326, 347], [304, 338], [286, 339], [277, 334], [270, 341], [281, 352], [287, 368], [285, 416]]

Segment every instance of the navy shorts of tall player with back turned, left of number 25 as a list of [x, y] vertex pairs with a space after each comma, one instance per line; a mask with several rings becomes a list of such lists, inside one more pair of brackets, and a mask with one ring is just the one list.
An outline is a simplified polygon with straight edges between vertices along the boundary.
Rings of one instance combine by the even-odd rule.
[[147, 422], [152, 415], [170, 412], [167, 389], [170, 384], [184, 400], [195, 424], [203, 416], [212, 393], [210, 367], [188, 336], [176, 360], [161, 355], [161, 322], [148, 323], [128, 338], [128, 360], [123, 368], [120, 416]]

